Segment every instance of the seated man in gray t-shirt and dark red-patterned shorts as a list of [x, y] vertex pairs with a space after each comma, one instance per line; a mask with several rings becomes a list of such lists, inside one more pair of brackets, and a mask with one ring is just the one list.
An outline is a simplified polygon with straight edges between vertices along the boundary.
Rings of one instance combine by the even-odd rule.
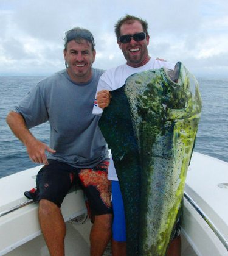
[[[60, 207], [75, 180], [85, 191], [94, 216], [91, 255], [103, 255], [111, 238], [108, 149], [97, 126], [99, 116], [92, 115], [103, 73], [92, 68], [95, 54], [91, 32], [78, 27], [66, 32], [64, 59], [68, 67], [41, 80], [7, 116], [32, 162], [44, 163], [36, 184], [40, 226], [50, 255], [64, 255], [66, 227]], [[46, 121], [50, 123], [50, 146], [29, 131]]]

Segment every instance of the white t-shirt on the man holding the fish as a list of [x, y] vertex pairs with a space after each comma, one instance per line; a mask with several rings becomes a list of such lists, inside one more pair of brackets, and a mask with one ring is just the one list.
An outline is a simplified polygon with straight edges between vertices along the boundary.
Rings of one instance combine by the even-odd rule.
[[[126, 63], [116, 68], [109, 69], [105, 71], [100, 77], [97, 86], [97, 93], [101, 90], [116, 90], [122, 87], [125, 84], [126, 79], [132, 74], [139, 73], [142, 71], [147, 71], [150, 69], [159, 69], [162, 67], [168, 69], [174, 69], [174, 64], [170, 62], [162, 62], [160, 60], [150, 59], [144, 66], [140, 66], [139, 68], [133, 68], [132, 66], [128, 66]], [[97, 97], [96, 93], [96, 97]], [[92, 113], [95, 115], [102, 115], [102, 108], [99, 108], [97, 105], [97, 99], [94, 101], [94, 108]], [[108, 179], [109, 180], [118, 180], [116, 175], [116, 169], [114, 167], [114, 163], [112, 160], [112, 155], [110, 158], [109, 168], [108, 168]]]

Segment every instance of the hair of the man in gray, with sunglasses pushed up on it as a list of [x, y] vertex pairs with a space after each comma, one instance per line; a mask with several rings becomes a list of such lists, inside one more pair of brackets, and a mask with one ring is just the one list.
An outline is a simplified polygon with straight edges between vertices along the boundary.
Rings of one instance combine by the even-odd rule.
[[81, 27], [74, 27], [67, 31], [64, 37], [64, 49], [67, 48], [67, 43], [71, 40], [75, 40], [76, 43], [82, 43], [82, 40], [86, 40], [91, 43], [92, 51], [94, 51], [95, 41], [94, 36], [88, 29], [82, 29]]

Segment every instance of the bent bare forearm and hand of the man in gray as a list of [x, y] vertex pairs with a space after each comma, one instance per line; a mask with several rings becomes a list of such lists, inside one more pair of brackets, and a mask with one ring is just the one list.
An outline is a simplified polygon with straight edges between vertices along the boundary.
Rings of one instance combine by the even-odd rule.
[[55, 153], [55, 150], [36, 140], [32, 133], [29, 132], [29, 129], [27, 129], [24, 118], [20, 114], [10, 111], [6, 121], [15, 136], [26, 146], [27, 153], [32, 162], [48, 165], [45, 151]]

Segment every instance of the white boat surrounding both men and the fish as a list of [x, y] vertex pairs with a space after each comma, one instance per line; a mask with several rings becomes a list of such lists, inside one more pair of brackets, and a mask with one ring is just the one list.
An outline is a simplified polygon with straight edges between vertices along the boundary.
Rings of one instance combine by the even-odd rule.
[[[0, 212], [27, 201], [24, 191], [35, 187], [35, 176], [40, 166], [0, 179]], [[228, 182], [228, 163], [206, 155], [193, 153], [188, 170], [185, 193], [198, 205], [204, 217], [184, 198], [182, 224], [182, 256], [228, 256], [228, 248], [219, 240], [207, 223], [212, 221], [219, 235], [228, 240], [228, 189], [218, 183]], [[4, 196], [5, 195], [5, 196]], [[66, 255], [89, 256], [91, 222], [74, 221], [86, 217], [86, 206], [81, 190], [75, 187], [67, 194], [61, 210], [66, 221]], [[0, 256], [49, 255], [38, 222], [38, 203], [26, 205], [0, 217]], [[221, 237], [220, 237], [221, 238]], [[111, 255], [110, 247], [104, 255]]]

